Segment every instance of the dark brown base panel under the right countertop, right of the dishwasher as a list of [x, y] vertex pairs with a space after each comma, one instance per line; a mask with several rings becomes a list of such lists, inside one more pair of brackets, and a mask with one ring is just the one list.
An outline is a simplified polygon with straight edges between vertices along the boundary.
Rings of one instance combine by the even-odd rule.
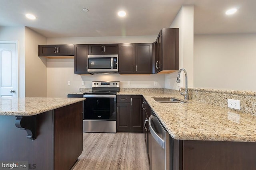
[[256, 170], [256, 143], [174, 140], [174, 170]]

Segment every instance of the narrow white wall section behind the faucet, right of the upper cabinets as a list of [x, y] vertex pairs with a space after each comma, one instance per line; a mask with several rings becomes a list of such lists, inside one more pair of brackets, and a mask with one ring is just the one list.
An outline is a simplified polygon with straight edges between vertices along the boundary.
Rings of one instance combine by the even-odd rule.
[[[185, 5], [180, 8], [170, 28], [180, 29], [180, 68], [185, 68], [188, 73], [188, 86], [194, 86], [194, 6]], [[182, 72], [181, 83], [176, 83], [177, 72], [165, 74], [165, 88], [175, 89], [185, 86], [185, 76]]]

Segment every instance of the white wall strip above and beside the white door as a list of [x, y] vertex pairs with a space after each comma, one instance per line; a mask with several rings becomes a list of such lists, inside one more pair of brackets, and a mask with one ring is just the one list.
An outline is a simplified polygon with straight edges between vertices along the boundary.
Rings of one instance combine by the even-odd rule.
[[0, 40], [18, 40], [19, 94], [25, 97], [25, 35], [24, 27], [0, 27]]

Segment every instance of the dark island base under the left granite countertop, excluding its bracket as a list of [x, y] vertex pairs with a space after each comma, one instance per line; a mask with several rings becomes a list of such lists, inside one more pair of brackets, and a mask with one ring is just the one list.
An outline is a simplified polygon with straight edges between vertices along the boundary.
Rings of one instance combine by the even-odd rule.
[[36, 139], [0, 115], [0, 161], [27, 161], [28, 169], [69, 170], [82, 153], [82, 102], [36, 115]]

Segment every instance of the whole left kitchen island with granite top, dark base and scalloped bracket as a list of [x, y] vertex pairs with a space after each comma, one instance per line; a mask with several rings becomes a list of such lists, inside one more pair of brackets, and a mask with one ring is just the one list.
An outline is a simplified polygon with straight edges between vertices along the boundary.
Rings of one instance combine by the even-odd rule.
[[82, 153], [85, 98], [0, 99], [0, 160], [70, 169]]

